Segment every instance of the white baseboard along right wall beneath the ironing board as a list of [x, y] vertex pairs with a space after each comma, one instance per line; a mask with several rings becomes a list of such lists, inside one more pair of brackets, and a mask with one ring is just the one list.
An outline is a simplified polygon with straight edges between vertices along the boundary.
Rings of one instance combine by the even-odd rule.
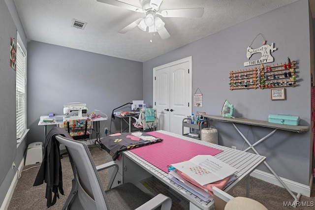
[[[272, 184], [275, 184], [277, 186], [280, 186], [280, 187], [284, 188], [284, 186], [281, 184], [281, 182], [273, 174], [269, 174], [267, 172], [260, 171], [260, 170], [255, 170], [254, 172], [252, 172], [251, 176], [254, 177], [254, 178], [257, 178], [259, 180], [263, 180], [263, 181], [266, 181], [266, 182], [269, 182], [269, 183], [272, 183]], [[311, 187], [310, 187], [311, 185], [308, 186], [308, 185], [301, 184], [301, 183], [296, 182], [296, 181], [284, 179], [282, 177], [281, 177], [281, 180], [283, 180], [285, 185], [292, 192], [301, 193], [304, 196], [311, 197]]]

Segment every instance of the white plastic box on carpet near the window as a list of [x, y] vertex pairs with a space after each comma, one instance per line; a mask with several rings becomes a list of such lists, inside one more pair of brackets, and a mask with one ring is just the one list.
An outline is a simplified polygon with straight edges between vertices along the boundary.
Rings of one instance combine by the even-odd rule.
[[26, 153], [25, 165], [41, 163], [43, 161], [43, 143], [33, 142], [29, 144]]

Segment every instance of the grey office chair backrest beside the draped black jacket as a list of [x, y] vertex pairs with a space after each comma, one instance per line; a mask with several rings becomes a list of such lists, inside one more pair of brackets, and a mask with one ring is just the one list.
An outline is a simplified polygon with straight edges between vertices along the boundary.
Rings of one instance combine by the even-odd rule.
[[74, 174], [72, 190], [63, 209], [107, 210], [105, 192], [87, 145], [61, 135], [56, 139], [66, 147]]

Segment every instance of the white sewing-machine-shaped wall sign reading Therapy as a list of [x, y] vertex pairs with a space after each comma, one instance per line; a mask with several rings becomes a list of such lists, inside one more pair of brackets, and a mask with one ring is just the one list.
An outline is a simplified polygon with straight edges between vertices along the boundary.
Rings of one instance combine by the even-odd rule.
[[261, 53], [261, 58], [258, 60], [244, 62], [244, 66], [273, 62], [274, 57], [271, 56], [271, 52], [274, 52], [275, 50], [277, 50], [277, 48], [274, 47], [274, 43], [271, 43], [271, 45], [264, 44], [261, 47], [256, 48], [256, 49], [252, 49], [252, 47], [248, 47], [246, 51], [246, 57], [248, 60], [250, 60], [252, 55], [256, 53]]

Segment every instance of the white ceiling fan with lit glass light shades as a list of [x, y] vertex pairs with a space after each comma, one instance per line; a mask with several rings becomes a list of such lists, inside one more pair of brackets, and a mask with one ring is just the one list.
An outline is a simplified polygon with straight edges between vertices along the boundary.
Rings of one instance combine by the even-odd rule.
[[[149, 33], [158, 32], [161, 39], [167, 39], [170, 34], [165, 29], [165, 23], [160, 17], [202, 17], [204, 8], [181, 8], [181, 9], [166, 9], [159, 11], [159, 7], [163, 0], [140, 0], [142, 8], [119, 1], [119, 0], [97, 0], [102, 3], [119, 6], [135, 12], [145, 13], [144, 18], [139, 18], [127, 25], [119, 33], [126, 33], [138, 26], [141, 30]], [[152, 40], [150, 40], [152, 42]]]

